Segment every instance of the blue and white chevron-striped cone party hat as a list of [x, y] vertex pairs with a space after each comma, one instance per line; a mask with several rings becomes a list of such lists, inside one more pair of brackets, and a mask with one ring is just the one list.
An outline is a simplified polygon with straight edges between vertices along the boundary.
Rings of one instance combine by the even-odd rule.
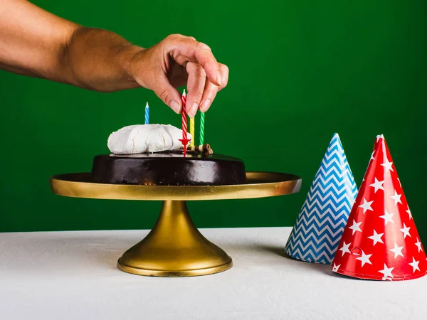
[[334, 134], [285, 252], [297, 260], [331, 264], [356, 196], [352, 171], [339, 136]]

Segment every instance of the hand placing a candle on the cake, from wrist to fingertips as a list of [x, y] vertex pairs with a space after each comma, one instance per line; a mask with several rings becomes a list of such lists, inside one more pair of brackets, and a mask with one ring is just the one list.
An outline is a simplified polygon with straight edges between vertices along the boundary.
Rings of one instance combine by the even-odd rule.
[[197, 110], [206, 112], [216, 92], [228, 82], [227, 66], [216, 61], [209, 46], [177, 34], [132, 56], [129, 70], [139, 85], [153, 90], [176, 113], [181, 112], [181, 93], [176, 87], [187, 85], [189, 117]]

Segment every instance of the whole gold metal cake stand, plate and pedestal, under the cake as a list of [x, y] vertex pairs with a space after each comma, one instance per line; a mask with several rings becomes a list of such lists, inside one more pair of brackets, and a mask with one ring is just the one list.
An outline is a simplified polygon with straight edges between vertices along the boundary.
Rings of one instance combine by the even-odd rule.
[[147, 237], [127, 250], [117, 267], [132, 274], [189, 277], [228, 270], [226, 252], [197, 230], [186, 201], [281, 196], [300, 191], [301, 178], [292, 174], [247, 172], [247, 184], [233, 186], [136, 186], [94, 183], [90, 173], [51, 177], [52, 191], [75, 198], [160, 200], [157, 223]]

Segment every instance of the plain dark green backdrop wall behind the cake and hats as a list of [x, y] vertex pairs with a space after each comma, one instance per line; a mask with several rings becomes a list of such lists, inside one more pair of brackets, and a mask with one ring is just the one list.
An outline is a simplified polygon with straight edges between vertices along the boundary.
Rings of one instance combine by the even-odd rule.
[[[208, 43], [230, 68], [206, 142], [248, 170], [305, 178], [297, 195], [191, 202], [199, 227], [292, 225], [332, 134], [358, 186], [384, 134], [427, 241], [427, 4], [419, 1], [34, 1], [149, 47], [170, 33]], [[90, 171], [110, 132], [180, 116], [148, 90], [90, 92], [0, 71], [0, 231], [151, 228], [161, 203], [55, 196], [49, 176]]]

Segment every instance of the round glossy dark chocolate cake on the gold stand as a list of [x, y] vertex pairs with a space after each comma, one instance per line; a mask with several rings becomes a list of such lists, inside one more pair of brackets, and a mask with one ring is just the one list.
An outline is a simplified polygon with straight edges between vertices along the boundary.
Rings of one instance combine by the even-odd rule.
[[159, 186], [218, 186], [246, 183], [241, 159], [221, 154], [174, 152], [104, 154], [95, 156], [92, 169], [97, 183]]

